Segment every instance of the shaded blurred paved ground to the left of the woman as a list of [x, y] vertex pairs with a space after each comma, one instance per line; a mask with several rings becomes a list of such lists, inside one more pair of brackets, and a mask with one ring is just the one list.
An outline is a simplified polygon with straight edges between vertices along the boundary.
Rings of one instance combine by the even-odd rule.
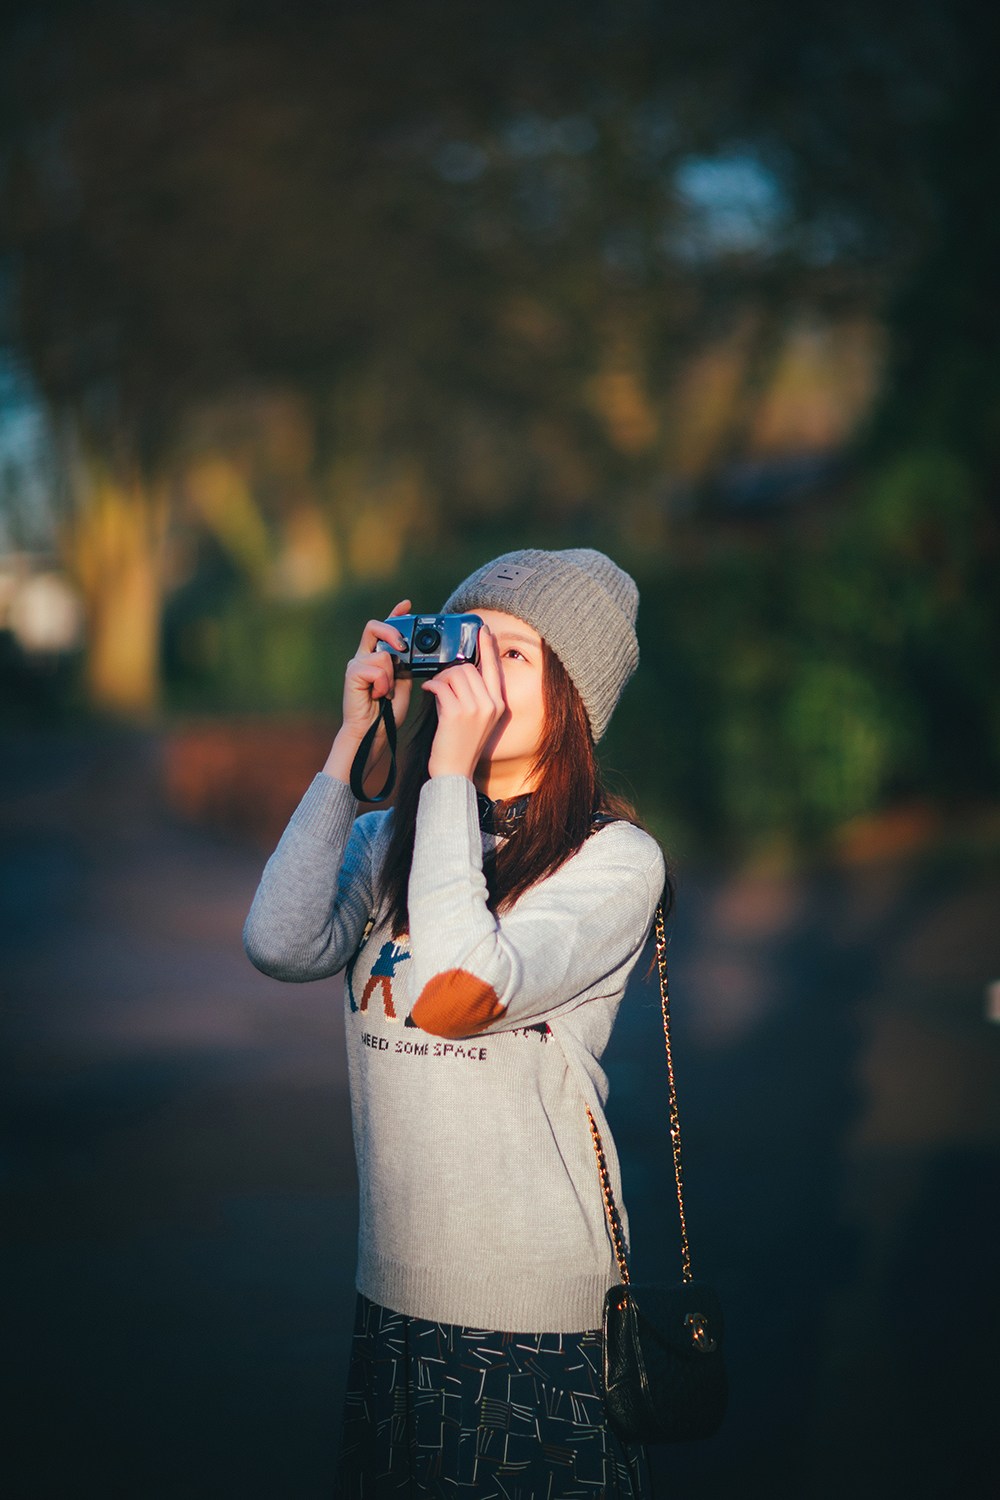
[[352, 1316], [337, 986], [141, 738], [0, 747], [9, 1496], [321, 1496]]

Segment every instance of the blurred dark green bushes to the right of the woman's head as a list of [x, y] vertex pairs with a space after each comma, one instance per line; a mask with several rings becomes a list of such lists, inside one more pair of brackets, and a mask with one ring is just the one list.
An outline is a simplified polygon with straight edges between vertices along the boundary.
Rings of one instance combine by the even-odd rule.
[[814, 844], [900, 798], [996, 796], [987, 506], [915, 452], [829, 531], [646, 574], [643, 663], [609, 736], [679, 842]]

